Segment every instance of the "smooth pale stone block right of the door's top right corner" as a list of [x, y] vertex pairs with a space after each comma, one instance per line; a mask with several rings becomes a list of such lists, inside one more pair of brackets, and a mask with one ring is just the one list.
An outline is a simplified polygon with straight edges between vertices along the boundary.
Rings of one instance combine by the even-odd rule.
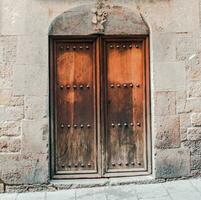
[[152, 41], [154, 61], [174, 62], [176, 60], [175, 38], [175, 33], [153, 33]]

